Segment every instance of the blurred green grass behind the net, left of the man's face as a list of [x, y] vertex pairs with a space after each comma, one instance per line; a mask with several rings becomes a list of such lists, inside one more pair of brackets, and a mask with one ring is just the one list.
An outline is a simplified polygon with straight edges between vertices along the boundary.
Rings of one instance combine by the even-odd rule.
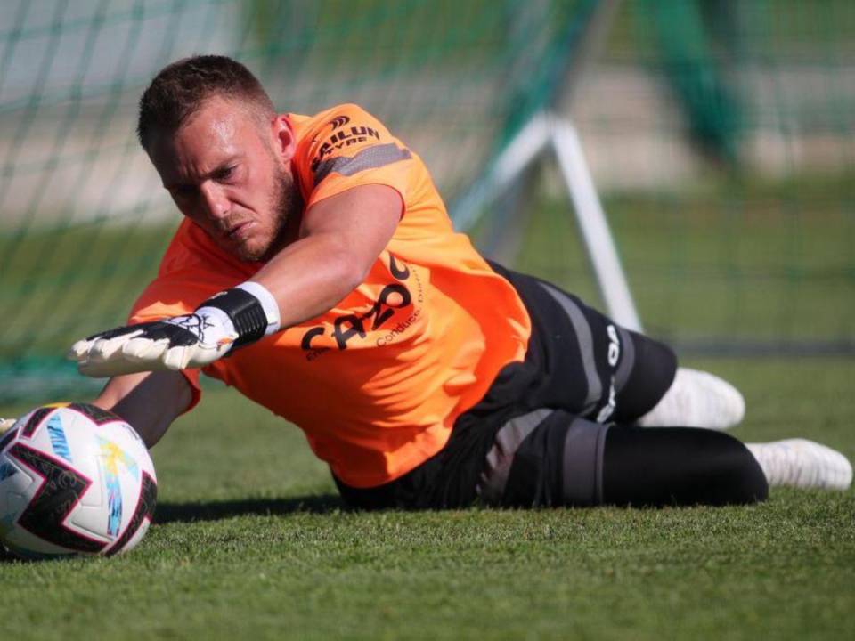
[[0, 309], [7, 321], [0, 363], [55, 359], [69, 337], [124, 321], [157, 273], [177, 223], [176, 215], [167, 226], [90, 223], [22, 237], [0, 233]]

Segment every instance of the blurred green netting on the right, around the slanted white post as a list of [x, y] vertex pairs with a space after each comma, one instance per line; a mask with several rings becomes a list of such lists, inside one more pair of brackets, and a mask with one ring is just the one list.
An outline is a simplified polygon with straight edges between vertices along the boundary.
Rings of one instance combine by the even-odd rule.
[[[575, 94], [649, 333], [855, 351], [855, 3], [625, 2]], [[542, 184], [518, 264], [596, 300], [563, 186]]]

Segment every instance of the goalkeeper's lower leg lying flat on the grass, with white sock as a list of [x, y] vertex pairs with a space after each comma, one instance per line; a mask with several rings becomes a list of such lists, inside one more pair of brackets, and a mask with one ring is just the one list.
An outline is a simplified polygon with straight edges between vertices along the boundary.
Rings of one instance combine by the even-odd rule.
[[[483, 422], [485, 421], [486, 422]], [[426, 463], [378, 488], [349, 488], [363, 509], [745, 504], [769, 486], [845, 490], [852, 467], [810, 441], [743, 444], [712, 430], [606, 426], [563, 410], [472, 417]]]

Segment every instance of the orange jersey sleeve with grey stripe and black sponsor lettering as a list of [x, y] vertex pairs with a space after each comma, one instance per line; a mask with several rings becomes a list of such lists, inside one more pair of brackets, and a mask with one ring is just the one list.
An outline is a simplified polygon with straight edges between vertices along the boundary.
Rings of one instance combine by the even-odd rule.
[[407, 202], [413, 156], [377, 118], [354, 104], [313, 118], [297, 144], [295, 166], [306, 207], [343, 191], [383, 184]]

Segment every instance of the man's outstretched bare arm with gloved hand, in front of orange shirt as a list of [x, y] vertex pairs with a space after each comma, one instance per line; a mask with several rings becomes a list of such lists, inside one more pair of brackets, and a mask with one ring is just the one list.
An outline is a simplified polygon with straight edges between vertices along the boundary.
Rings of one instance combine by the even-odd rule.
[[360, 185], [305, 212], [300, 238], [256, 273], [194, 313], [111, 329], [72, 345], [84, 374], [117, 377], [203, 367], [236, 346], [312, 319], [353, 291], [395, 233], [403, 199], [386, 185]]

